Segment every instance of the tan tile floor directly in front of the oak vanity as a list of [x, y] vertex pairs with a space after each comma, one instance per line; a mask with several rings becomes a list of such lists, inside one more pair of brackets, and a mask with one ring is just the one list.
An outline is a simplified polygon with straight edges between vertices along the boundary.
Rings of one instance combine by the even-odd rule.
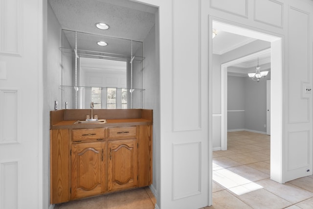
[[54, 209], [154, 209], [155, 204], [149, 187], [143, 187], [62, 203]]

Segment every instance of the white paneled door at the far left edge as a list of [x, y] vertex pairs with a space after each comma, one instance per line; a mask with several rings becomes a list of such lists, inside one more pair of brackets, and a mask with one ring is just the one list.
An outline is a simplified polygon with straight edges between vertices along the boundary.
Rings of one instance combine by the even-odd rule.
[[0, 209], [43, 208], [42, 10], [0, 0]]

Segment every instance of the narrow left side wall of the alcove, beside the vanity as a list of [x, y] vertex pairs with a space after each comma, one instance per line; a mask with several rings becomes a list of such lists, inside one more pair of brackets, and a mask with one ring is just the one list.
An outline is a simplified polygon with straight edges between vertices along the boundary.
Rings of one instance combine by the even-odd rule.
[[61, 46], [61, 26], [56, 19], [54, 12], [48, 2], [46, 3], [46, 68], [44, 68], [44, 125], [43, 125], [43, 208], [50, 206], [50, 113], [54, 110], [54, 101], [59, 102], [61, 109], [62, 92], [60, 85], [62, 83], [62, 54], [59, 49]]

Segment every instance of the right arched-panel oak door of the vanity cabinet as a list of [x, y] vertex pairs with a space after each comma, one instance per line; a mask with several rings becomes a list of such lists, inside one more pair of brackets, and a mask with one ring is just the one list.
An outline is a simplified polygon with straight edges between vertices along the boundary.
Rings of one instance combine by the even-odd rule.
[[108, 154], [108, 191], [136, 187], [136, 139], [109, 141]]

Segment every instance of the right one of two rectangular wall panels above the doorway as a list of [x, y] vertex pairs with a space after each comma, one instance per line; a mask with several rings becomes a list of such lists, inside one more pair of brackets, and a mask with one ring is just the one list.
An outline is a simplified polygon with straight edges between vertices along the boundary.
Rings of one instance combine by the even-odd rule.
[[276, 0], [254, 0], [254, 21], [283, 28], [283, 6], [282, 2]]

